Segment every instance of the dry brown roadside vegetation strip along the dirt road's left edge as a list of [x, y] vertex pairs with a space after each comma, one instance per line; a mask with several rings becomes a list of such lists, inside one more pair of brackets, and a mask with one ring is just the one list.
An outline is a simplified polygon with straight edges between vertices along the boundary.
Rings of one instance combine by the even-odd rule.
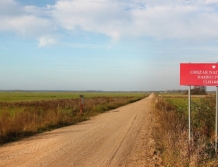
[[79, 98], [0, 102], [0, 144], [72, 125], [144, 97], [110, 96], [85, 98], [82, 114], [79, 114], [81, 101]]

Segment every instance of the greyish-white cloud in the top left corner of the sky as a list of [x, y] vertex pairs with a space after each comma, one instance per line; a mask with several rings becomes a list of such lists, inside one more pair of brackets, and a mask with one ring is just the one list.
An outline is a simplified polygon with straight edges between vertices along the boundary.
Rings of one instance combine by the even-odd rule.
[[22, 7], [13, 0], [0, 2], [0, 32], [9, 31], [23, 37], [38, 38], [53, 31], [53, 23], [45, 15], [45, 10], [41, 8]]

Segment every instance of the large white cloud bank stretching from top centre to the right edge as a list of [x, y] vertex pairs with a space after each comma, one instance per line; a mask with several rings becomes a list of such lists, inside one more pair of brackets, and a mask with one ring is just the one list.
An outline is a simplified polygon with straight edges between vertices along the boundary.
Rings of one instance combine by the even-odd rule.
[[123, 36], [188, 40], [217, 38], [218, 12], [205, 5], [207, 1], [59, 0], [53, 16], [63, 29], [74, 31], [79, 27], [108, 35], [113, 40]]

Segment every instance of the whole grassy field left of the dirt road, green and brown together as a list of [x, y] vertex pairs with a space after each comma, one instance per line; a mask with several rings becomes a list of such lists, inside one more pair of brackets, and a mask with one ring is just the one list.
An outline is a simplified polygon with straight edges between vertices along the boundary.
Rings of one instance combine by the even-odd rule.
[[[85, 97], [83, 112], [80, 112], [81, 94]], [[0, 92], [0, 145], [73, 125], [147, 95], [132, 92]]]

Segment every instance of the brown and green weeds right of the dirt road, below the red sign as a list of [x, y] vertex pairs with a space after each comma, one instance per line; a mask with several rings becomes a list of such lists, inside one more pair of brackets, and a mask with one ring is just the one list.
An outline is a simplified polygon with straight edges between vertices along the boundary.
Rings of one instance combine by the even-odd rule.
[[188, 140], [188, 97], [156, 96], [155, 133], [157, 153], [163, 166], [217, 166], [214, 150], [215, 105], [213, 95], [192, 98], [192, 139]]

